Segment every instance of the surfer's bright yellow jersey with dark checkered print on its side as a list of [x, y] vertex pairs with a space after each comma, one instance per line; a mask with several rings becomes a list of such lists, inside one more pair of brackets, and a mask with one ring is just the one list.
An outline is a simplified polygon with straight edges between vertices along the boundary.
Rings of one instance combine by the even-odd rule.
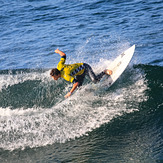
[[61, 71], [61, 77], [69, 82], [73, 82], [74, 77], [84, 73], [83, 63], [65, 64], [66, 59], [62, 57], [57, 65], [57, 69]]

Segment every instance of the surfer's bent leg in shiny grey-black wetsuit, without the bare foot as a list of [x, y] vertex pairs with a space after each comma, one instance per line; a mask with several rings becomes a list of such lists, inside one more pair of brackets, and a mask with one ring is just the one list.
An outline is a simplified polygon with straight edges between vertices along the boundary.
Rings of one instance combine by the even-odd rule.
[[105, 75], [105, 72], [101, 72], [98, 75], [95, 75], [95, 73], [92, 70], [92, 67], [86, 63], [84, 63], [84, 67], [86, 70], [86, 74], [90, 77], [93, 83], [97, 83], [100, 81], [100, 79]]

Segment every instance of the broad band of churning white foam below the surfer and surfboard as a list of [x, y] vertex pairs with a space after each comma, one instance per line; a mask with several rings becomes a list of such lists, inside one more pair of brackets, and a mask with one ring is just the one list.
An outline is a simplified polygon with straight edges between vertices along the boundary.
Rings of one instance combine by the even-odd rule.
[[139, 102], [147, 99], [142, 78], [103, 96], [86, 91], [86, 87], [50, 109], [0, 108], [0, 148], [14, 150], [64, 143], [87, 135], [117, 116], [138, 111]]

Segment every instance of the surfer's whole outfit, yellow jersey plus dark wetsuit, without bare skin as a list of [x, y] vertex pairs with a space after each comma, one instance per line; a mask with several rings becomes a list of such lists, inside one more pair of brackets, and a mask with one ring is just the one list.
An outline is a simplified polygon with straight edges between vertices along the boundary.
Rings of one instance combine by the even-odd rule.
[[63, 56], [57, 65], [57, 69], [61, 72], [61, 78], [71, 83], [79, 82], [79, 86], [82, 85], [85, 75], [88, 75], [94, 83], [100, 81], [105, 75], [104, 72], [101, 72], [96, 76], [91, 66], [86, 63], [65, 64], [65, 61], [66, 56]]

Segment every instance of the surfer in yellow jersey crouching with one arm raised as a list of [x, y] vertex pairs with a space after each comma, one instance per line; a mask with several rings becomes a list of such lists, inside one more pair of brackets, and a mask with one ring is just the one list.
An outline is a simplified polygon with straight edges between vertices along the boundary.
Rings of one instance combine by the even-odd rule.
[[84, 81], [85, 75], [88, 75], [92, 82], [97, 83], [100, 79], [106, 75], [112, 75], [111, 70], [104, 70], [100, 74], [95, 75], [90, 65], [86, 63], [75, 63], [75, 64], [65, 64], [66, 54], [59, 49], [55, 50], [55, 53], [60, 54], [61, 59], [57, 65], [57, 68], [51, 70], [50, 75], [54, 80], [58, 80], [59, 78], [63, 78], [66, 81], [73, 83], [73, 87], [65, 95], [65, 98], [71, 96], [74, 90], [77, 87], [80, 87]]

